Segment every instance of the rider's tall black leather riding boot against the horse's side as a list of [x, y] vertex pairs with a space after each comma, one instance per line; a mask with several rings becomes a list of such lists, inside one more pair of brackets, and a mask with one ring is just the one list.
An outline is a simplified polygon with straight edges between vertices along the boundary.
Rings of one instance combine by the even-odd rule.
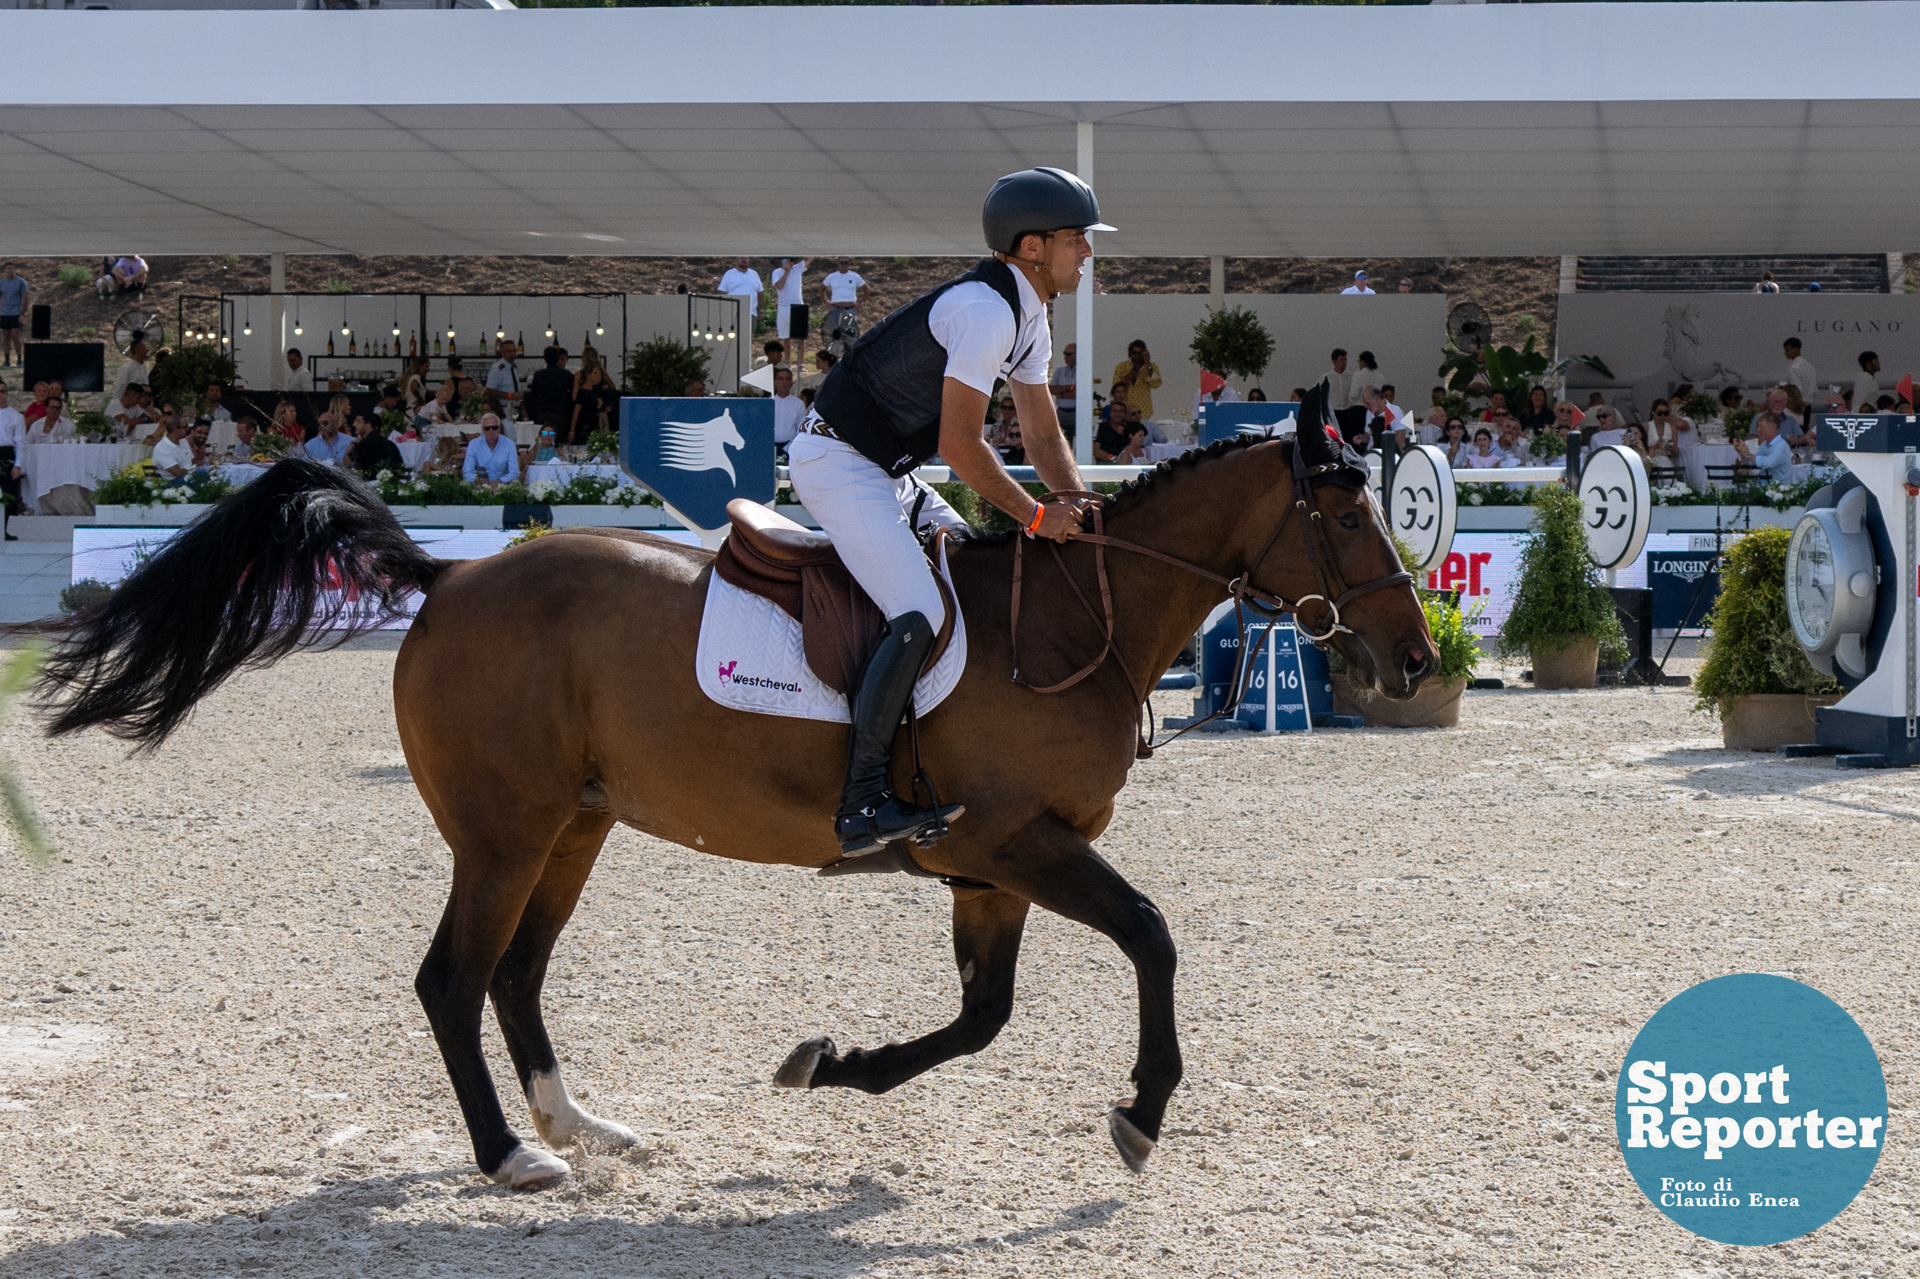
[[895, 839], [929, 847], [947, 833], [947, 822], [960, 816], [960, 805], [920, 808], [887, 787], [893, 737], [914, 697], [914, 684], [933, 645], [933, 626], [925, 615], [902, 613], [887, 622], [887, 636], [860, 676], [852, 697], [852, 749], [847, 759], [847, 787], [833, 816], [841, 855], [858, 857]]

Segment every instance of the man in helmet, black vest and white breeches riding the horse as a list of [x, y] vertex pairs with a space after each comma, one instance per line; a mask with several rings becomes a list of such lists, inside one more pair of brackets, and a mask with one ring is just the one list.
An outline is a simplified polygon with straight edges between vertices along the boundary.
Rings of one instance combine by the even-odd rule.
[[937, 837], [952, 805], [922, 808], [887, 787], [893, 737], [945, 609], [914, 520], [964, 530], [966, 520], [914, 467], [935, 453], [956, 480], [1006, 511], [1031, 536], [1066, 542], [1079, 501], [1039, 503], [983, 438], [987, 401], [1008, 380], [1027, 461], [1048, 490], [1083, 490], [1060, 432], [1046, 365], [1046, 302], [1079, 284], [1100, 223], [1092, 188], [1062, 169], [1010, 173], [981, 209], [987, 248], [947, 280], [874, 325], [820, 384], [787, 447], [793, 492], [833, 538], [847, 570], [887, 616], [852, 695], [852, 747], [833, 833], [858, 857], [895, 839]]

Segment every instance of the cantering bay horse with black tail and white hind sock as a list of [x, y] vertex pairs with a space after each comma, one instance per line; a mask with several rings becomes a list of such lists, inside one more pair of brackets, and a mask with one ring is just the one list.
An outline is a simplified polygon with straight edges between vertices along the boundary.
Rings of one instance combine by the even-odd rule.
[[[1108, 1127], [1125, 1164], [1144, 1168], [1181, 1079], [1175, 949], [1154, 903], [1092, 841], [1137, 759], [1146, 693], [1229, 595], [1294, 607], [1356, 684], [1388, 697], [1411, 697], [1434, 668], [1365, 471], [1306, 436], [1298, 449], [1238, 440], [1162, 463], [1106, 503], [1104, 534], [1066, 547], [960, 540], [948, 563], [966, 670], [918, 732], [929, 776], [966, 816], [912, 853], [952, 887], [960, 1014], [877, 1049], [810, 1039], [776, 1083], [885, 1093], [983, 1050], [1012, 1012], [1027, 908], [1043, 906], [1108, 935], [1135, 966], [1135, 1097]], [[839, 860], [847, 726], [747, 714], [701, 693], [693, 653], [710, 572], [708, 551], [632, 530], [566, 530], [440, 561], [363, 482], [280, 461], [65, 624], [40, 689], [48, 732], [98, 724], [150, 749], [232, 672], [372, 626], [424, 591], [394, 661], [394, 712], [453, 883], [415, 991], [480, 1170], [538, 1189], [568, 1173], [555, 1150], [636, 1139], [568, 1097], [540, 1006], [607, 832], [624, 822], [760, 864]], [[1116, 661], [1069, 689], [1035, 691], [1108, 651]], [[478, 668], [492, 674], [490, 697], [444, 695], [444, 672]], [[904, 741], [895, 759], [904, 787]], [[488, 997], [547, 1150], [524, 1145], [501, 1112], [480, 1049]]]

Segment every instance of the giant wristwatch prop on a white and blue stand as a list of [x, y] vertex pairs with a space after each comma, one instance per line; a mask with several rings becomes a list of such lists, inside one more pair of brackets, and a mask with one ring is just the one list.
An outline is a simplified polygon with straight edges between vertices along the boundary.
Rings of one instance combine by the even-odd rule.
[[1814, 711], [1812, 747], [1841, 764], [1920, 764], [1916, 707], [1914, 495], [1920, 494], [1920, 422], [1912, 417], [1814, 415], [1820, 447], [1847, 474], [1814, 494], [1788, 547], [1788, 620], [1807, 661], [1847, 695]]

